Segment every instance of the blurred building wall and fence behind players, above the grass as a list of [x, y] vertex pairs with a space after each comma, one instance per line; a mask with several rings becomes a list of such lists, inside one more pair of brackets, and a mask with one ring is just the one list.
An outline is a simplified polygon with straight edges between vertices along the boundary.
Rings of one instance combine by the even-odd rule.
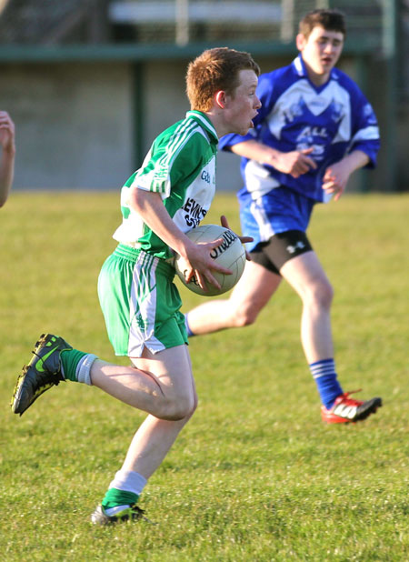
[[[0, 109], [16, 125], [14, 189], [117, 189], [155, 135], [185, 116], [185, 69], [212, 46], [267, 72], [297, 51], [299, 19], [346, 15], [340, 64], [381, 128], [375, 172], [351, 191], [409, 189], [409, 0], [0, 0]], [[218, 188], [241, 186], [220, 154]]]

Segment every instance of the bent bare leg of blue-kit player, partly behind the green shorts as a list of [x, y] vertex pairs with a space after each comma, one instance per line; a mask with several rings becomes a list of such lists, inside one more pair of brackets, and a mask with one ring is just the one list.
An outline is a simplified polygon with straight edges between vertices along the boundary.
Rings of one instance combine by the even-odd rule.
[[226, 300], [211, 300], [189, 311], [189, 326], [196, 335], [253, 324], [278, 288], [281, 277], [254, 262], [246, 262], [244, 274]]

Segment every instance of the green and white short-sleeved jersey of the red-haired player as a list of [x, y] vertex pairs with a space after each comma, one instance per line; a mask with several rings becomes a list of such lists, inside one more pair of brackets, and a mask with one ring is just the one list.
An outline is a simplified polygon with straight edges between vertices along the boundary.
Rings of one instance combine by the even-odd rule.
[[217, 143], [214, 126], [199, 111], [188, 111], [184, 120], [157, 136], [143, 165], [122, 188], [123, 221], [115, 240], [153, 256], [171, 257], [169, 246], [129, 206], [130, 187], [160, 193], [175, 224], [188, 232], [205, 217], [214, 198]]

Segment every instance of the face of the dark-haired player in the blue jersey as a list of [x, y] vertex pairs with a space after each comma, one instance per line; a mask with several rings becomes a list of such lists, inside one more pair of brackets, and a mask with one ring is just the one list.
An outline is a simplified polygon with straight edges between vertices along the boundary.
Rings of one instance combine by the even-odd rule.
[[316, 26], [308, 38], [297, 35], [296, 42], [310, 79], [315, 84], [324, 84], [341, 55], [344, 34]]

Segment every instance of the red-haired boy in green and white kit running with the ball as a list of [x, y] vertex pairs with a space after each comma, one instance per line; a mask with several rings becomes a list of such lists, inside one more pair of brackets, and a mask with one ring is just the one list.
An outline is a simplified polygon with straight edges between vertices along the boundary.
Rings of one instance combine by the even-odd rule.
[[214, 270], [229, 273], [210, 257], [222, 239], [196, 245], [185, 233], [200, 223], [213, 199], [218, 139], [244, 135], [253, 126], [260, 107], [258, 75], [247, 53], [221, 47], [198, 56], [186, 75], [191, 111], [155, 139], [143, 165], [122, 188], [123, 221], [114, 235], [118, 246], [102, 267], [98, 294], [115, 354], [129, 356], [133, 366], [107, 363], [46, 334], [15, 386], [12, 408], [20, 415], [66, 379], [97, 386], [147, 412], [91, 517], [95, 524], [144, 517], [138, 497], [195, 412], [195, 381], [172, 258], [175, 252], [182, 256], [187, 279], [195, 276], [202, 287], [218, 286]]

